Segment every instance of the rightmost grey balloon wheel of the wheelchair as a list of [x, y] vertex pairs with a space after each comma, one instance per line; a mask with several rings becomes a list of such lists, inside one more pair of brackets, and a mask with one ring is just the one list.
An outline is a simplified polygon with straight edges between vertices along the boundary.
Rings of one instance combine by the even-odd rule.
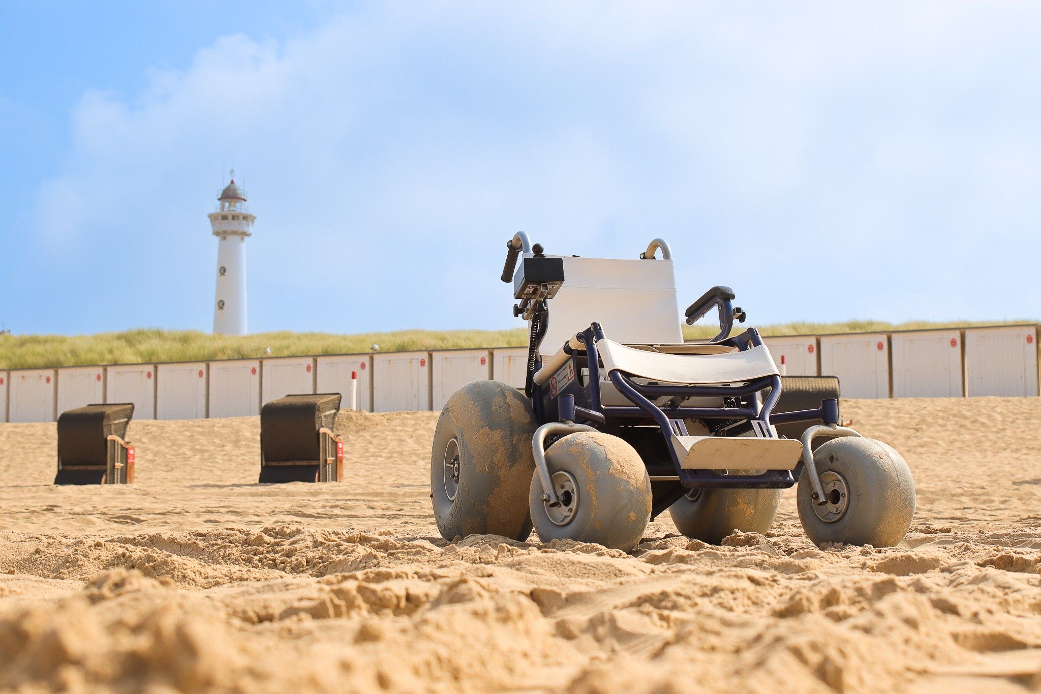
[[798, 481], [798, 518], [813, 541], [892, 547], [914, 518], [911, 468], [887, 443], [864, 437], [828, 441], [813, 455], [826, 504], [814, 502], [809, 470]]

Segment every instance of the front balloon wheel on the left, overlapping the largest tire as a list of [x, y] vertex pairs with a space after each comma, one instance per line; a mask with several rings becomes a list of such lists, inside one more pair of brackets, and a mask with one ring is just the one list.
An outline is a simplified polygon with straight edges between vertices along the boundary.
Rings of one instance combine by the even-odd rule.
[[601, 432], [577, 432], [553, 443], [545, 462], [561, 507], [542, 500], [532, 475], [529, 504], [542, 542], [595, 542], [629, 551], [643, 538], [651, 517], [651, 479], [636, 449]]

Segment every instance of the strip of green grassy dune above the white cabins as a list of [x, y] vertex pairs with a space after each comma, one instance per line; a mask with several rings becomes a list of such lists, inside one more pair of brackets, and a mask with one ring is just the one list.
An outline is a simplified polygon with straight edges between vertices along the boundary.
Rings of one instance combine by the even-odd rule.
[[[891, 324], [881, 320], [847, 323], [789, 323], [760, 326], [764, 335], [823, 335], [924, 328], [971, 327], [1032, 323], [1031, 320], [950, 322]], [[715, 334], [710, 326], [684, 328], [687, 339]], [[369, 352], [379, 344], [383, 352], [406, 350], [458, 350], [527, 344], [527, 331], [515, 330], [405, 330], [393, 333], [332, 335], [328, 333], [258, 333], [245, 337], [208, 335], [194, 330], [128, 330], [97, 335], [0, 335], [0, 368], [76, 366], [81, 364], [130, 364], [166, 361], [205, 361], [312, 354]]]

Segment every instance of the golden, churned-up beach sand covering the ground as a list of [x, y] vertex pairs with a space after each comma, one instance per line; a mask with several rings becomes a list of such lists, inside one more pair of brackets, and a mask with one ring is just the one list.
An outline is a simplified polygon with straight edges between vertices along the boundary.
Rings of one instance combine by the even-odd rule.
[[818, 549], [794, 491], [725, 546], [438, 537], [436, 414], [345, 414], [348, 480], [255, 484], [255, 417], [134, 421], [137, 483], [53, 487], [0, 425], [0, 688], [1019, 692], [1041, 688], [1041, 400], [848, 401], [910, 463], [899, 547]]

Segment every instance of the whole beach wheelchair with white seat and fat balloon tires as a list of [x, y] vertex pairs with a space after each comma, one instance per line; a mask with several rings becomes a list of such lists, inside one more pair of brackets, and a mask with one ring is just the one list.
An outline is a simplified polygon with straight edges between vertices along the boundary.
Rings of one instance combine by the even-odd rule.
[[[446, 539], [524, 541], [534, 526], [542, 542], [630, 550], [668, 510], [682, 534], [719, 543], [767, 532], [796, 482], [815, 544], [904, 538], [915, 490], [900, 455], [841, 426], [837, 391], [775, 412], [781, 375], [754, 328], [731, 335], [745, 314], [730, 288], [684, 313], [715, 311], [718, 334], [684, 342], [663, 240], [614, 260], [547, 255], [518, 233], [502, 280], [529, 326], [525, 389], [471, 383], [442, 409], [430, 478]], [[798, 438], [779, 436], [797, 422]]]

